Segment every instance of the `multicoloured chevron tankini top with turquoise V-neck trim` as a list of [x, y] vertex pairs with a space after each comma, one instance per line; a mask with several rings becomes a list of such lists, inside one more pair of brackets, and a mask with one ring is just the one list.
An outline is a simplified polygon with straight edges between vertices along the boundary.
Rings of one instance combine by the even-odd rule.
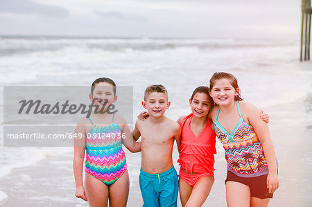
[[[236, 106], [241, 116], [239, 101]], [[214, 122], [216, 136], [225, 150], [225, 159], [227, 161], [227, 170], [233, 172], [239, 177], [257, 177], [268, 174], [268, 164], [263, 153], [263, 148], [254, 128], [243, 120], [242, 116], [239, 122], [229, 134], [218, 123], [218, 113]]]

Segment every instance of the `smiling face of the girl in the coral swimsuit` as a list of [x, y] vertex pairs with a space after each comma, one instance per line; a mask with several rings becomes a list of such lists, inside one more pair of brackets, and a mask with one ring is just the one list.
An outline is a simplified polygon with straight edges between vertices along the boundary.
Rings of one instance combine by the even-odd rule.
[[195, 96], [193, 96], [193, 99], [189, 99], [189, 105], [193, 116], [199, 118], [208, 115], [212, 103], [206, 93], [196, 93]]

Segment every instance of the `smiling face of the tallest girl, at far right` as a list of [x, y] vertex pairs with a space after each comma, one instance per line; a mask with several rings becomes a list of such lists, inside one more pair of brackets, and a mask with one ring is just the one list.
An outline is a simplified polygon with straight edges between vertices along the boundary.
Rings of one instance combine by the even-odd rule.
[[222, 78], [216, 80], [209, 94], [217, 105], [226, 106], [234, 102], [235, 96], [239, 95], [239, 88], [234, 89], [227, 78]]

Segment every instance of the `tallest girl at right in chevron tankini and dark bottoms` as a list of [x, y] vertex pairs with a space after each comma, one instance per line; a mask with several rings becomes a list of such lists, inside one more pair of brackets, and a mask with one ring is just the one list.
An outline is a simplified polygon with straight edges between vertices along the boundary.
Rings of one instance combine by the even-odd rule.
[[227, 161], [227, 205], [268, 206], [279, 187], [275, 150], [270, 132], [254, 105], [242, 101], [234, 75], [214, 73], [210, 91], [216, 136]]

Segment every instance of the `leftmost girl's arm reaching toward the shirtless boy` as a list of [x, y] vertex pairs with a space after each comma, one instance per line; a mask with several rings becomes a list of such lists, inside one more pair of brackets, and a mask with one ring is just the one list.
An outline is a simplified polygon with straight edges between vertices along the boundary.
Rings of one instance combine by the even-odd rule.
[[141, 142], [137, 142], [132, 135], [128, 123], [123, 116], [115, 115], [116, 123], [121, 127], [121, 141], [130, 152], [140, 152]]

